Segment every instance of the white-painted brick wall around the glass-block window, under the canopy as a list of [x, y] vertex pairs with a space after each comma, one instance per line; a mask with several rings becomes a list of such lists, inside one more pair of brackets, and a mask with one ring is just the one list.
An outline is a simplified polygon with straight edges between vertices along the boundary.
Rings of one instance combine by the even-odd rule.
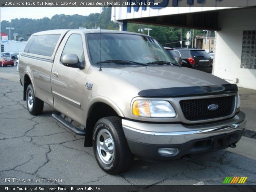
[[243, 31], [256, 30], [255, 18], [256, 8], [220, 12], [213, 74], [230, 83], [238, 78], [237, 86], [256, 90], [256, 69], [240, 68]]

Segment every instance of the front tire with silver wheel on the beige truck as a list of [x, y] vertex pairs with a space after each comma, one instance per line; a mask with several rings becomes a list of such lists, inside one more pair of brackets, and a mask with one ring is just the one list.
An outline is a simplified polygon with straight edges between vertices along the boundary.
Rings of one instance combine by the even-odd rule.
[[119, 117], [104, 117], [95, 124], [92, 147], [97, 163], [108, 174], [126, 171], [133, 161]]

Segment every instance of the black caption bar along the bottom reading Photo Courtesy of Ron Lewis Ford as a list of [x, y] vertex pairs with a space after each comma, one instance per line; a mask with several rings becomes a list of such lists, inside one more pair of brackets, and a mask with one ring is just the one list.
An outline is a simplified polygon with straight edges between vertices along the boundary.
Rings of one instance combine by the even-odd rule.
[[232, 185], [232, 184], [220, 184], [215, 186], [110, 186], [110, 185], [81, 185], [81, 186], [36, 186], [36, 185], [9, 185], [0, 186], [1, 192], [88, 192], [88, 191], [99, 191], [99, 192], [250, 192], [256, 191], [256, 186], [244, 186], [244, 185]]

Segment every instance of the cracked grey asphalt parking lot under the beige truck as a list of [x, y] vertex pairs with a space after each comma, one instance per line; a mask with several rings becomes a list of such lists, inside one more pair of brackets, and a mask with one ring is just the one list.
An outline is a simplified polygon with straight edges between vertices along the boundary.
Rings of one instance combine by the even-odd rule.
[[[31, 116], [23, 101], [16, 67], [0, 68], [0, 185], [222, 185], [228, 177], [248, 177], [256, 185], [256, 91], [240, 89], [241, 109], [248, 117], [246, 135], [236, 148], [193, 155], [190, 160], [148, 163], [135, 159], [120, 175], [103, 172], [84, 137], [52, 118], [44, 104], [40, 116]], [[56, 183], [5, 182], [5, 178], [59, 179]], [[55, 180], [54, 180], [55, 181]], [[241, 185], [241, 184], [240, 184]]]

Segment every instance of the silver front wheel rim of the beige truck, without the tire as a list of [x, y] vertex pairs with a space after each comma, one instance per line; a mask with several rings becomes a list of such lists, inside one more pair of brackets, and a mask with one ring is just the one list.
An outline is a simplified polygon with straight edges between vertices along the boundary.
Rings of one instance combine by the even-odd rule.
[[111, 164], [115, 156], [114, 140], [110, 132], [101, 129], [97, 135], [97, 152], [100, 159], [105, 164]]

